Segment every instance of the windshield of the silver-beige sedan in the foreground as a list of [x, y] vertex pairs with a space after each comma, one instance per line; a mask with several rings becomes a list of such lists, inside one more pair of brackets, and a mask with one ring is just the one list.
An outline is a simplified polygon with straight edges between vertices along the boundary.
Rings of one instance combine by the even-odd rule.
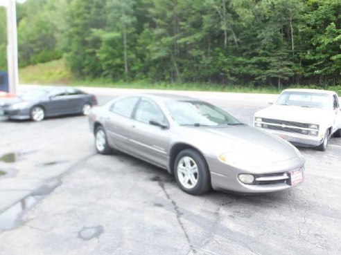
[[226, 126], [241, 125], [222, 109], [201, 101], [169, 101], [166, 107], [173, 120], [181, 126]]

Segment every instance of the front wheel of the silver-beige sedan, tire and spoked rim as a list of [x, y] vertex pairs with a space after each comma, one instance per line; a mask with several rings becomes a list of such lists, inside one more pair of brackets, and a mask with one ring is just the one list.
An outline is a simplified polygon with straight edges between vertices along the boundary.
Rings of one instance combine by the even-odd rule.
[[177, 185], [186, 193], [199, 195], [211, 189], [209, 168], [198, 151], [181, 151], [175, 158], [174, 171]]

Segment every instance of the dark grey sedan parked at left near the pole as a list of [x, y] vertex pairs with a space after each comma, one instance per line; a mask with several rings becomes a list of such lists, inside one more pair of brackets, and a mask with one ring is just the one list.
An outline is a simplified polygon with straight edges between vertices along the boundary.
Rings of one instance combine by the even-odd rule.
[[0, 115], [10, 119], [42, 121], [45, 117], [81, 113], [88, 115], [97, 104], [94, 95], [78, 88], [44, 86], [33, 88], [18, 97], [0, 100]]

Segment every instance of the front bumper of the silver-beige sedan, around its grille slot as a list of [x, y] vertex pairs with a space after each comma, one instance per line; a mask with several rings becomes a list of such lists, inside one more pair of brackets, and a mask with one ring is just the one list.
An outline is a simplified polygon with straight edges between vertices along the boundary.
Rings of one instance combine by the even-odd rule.
[[[262, 167], [259, 167], [259, 169], [231, 167], [228, 164], [220, 162], [216, 158], [207, 158], [207, 163], [209, 164], [211, 173], [212, 188], [215, 190], [233, 191], [237, 193], [268, 193], [290, 189], [291, 187], [298, 185], [291, 185], [290, 173], [301, 169], [302, 175], [304, 175], [304, 160], [299, 157], [277, 162], [273, 167], [268, 167], [268, 169]], [[238, 180], [238, 175], [241, 173], [250, 173], [257, 178], [279, 176], [287, 176], [288, 178], [283, 178], [283, 180], [274, 182], [254, 182], [254, 184], [245, 185]]]

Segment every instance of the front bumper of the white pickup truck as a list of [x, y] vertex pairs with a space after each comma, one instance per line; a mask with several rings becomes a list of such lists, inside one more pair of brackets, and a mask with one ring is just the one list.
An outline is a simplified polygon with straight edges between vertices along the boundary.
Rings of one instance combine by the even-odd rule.
[[279, 136], [280, 138], [291, 142], [292, 144], [297, 144], [298, 146], [302, 147], [317, 147], [323, 142], [323, 137], [320, 135], [313, 136], [313, 135], [300, 135], [296, 133], [288, 133], [284, 131], [278, 130], [271, 130], [271, 129], [262, 129], [268, 133], [272, 133], [274, 135]]

